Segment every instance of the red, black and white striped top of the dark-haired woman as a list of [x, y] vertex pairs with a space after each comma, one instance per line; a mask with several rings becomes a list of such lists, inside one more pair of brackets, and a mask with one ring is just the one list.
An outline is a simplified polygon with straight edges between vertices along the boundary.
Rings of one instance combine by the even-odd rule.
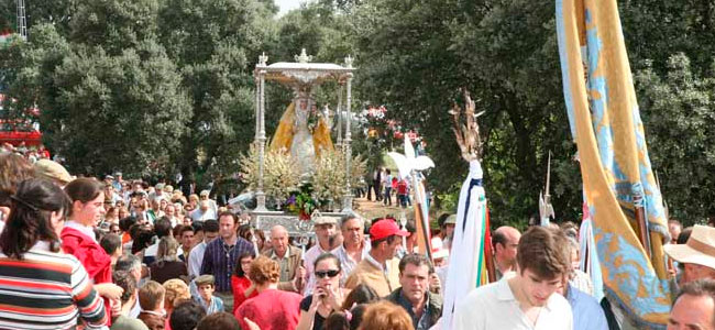
[[102, 299], [81, 263], [37, 242], [22, 260], [0, 252], [0, 329], [87, 329], [107, 323]]

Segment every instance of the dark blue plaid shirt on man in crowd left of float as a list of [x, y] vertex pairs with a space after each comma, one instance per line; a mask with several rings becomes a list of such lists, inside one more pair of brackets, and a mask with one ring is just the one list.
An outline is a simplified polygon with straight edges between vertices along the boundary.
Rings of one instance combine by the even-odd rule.
[[254, 253], [253, 244], [245, 239], [238, 238], [234, 245], [226, 243], [223, 238], [218, 238], [208, 245], [204, 252], [201, 274], [211, 274], [216, 280], [216, 292], [231, 293], [231, 275], [235, 268], [239, 256], [244, 252]]

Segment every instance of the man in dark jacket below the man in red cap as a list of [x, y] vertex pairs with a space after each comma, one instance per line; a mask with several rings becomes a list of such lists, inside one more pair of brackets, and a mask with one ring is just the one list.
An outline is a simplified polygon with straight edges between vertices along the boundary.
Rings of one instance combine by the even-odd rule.
[[442, 315], [442, 298], [429, 290], [429, 278], [435, 268], [421, 254], [407, 254], [399, 262], [399, 284], [387, 300], [407, 310], [416, 330], [427, 330], [437, 323]]

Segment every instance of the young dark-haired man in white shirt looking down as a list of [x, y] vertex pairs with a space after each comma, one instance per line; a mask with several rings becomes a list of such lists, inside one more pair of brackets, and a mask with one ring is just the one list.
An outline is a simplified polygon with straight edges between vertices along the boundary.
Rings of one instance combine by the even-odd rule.
[[457, 306], [453, 329], [571, 330], [566, 299], [554, 293], [569, 274], [565, 235], [534, 227], [519, 241], [517, 273], [474, 289]]

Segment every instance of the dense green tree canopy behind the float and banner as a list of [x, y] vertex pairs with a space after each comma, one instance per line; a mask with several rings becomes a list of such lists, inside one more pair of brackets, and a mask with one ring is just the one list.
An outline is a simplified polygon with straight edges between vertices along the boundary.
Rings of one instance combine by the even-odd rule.
[[[673, 217], [715, 216], [715, 45], [707, 1], [622, 1], [620, 18], [650, 157]], [[0, 6], [0, 29], [14, 24]], [[384, 105], [388, 119], [417, 130], [438, 164], [437, 195], [457, 194], [466, 164], [448, 110], [471, 92], [485, 141], [485, 188], [495, 224], [537, 213], [547, 155], [560, 220], [578, 221], [581, 178], [564, 109], [554, 4], [526, 0], [320, 0], [276, 16], [271, 0], [33, 0], [29, 41], [0, 50], [3, 86], [36, 105], [45, 141], [70, 169], [101, 174], [182, 172], [227, 178], [253, 141], [253, 67], [353, 55], [353, 111]], [[337, 103], [326, 84], [321, 103]], [[271, 134], [292, 99], [271, 84]], [[21, 113], [22, 111], [7, 111]], [[389, 144], [359, 132], [355, 150], [374, 160]]]

